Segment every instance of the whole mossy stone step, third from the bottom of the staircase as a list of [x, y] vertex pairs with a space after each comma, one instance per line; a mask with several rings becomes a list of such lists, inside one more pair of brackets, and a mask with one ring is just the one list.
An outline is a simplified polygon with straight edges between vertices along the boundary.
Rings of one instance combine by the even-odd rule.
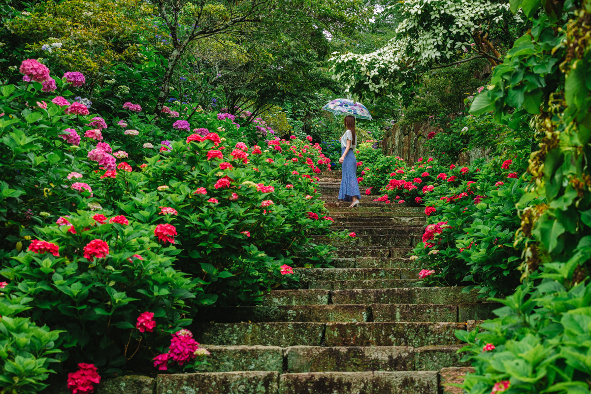
[[195, 336], [214, 345], [261, 346], [433, 346], [452, 345], [454, 322], [209, 323], [195, 325]]

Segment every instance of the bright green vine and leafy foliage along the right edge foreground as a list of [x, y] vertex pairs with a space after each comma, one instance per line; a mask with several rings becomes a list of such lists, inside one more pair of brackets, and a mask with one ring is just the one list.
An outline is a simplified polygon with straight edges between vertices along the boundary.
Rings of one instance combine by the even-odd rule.
[[[476, 369], [464, 388], [483, 393], [507, 380], [508, 392], [588, 393], [591, 45], [583, 37], [591, 8], [588, 1], [511, 6], [524, 6], [531, 31], [496, 67], [472, 112], [492, 110], [499, 120], [514, 109], [535, 115], [532, 126], [543, 138], [530, 158], [532, 186], [521, 200], [543, 200], [521, 217], [519, 237], [535, 239], [525, 248], [525, 284], [502, 301], [499, 318], [482, 324], [486, 331], [458, 334], [469, 343]], [[484, 342], [496, 349], [480, 353]]]

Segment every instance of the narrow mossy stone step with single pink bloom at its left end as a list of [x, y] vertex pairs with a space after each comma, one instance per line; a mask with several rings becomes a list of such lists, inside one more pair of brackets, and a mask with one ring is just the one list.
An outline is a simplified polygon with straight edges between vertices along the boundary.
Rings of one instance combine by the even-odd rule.
[[300, 281], [361, 281], [370, 279], [418, 279], [418, 271], [401, 268], [296, 268]]

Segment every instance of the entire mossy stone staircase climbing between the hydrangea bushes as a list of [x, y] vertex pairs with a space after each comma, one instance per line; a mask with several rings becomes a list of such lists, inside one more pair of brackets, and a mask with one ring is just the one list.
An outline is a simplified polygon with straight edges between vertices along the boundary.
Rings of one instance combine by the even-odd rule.
[[408, 253], [423, 233], [423, 209], [371, 197], [348, 209], [336, 201], [340, 176], [322, 173], [322, 196], [335, 226], [357, 237], [333, 243], [335, 268], [295, 269], [301, 289], [207, 315], [193, 331], [212, 353], [209, 364], [200, 373], [160, 375], [158, 393], [460, 392], [443, 386], [467, 370], [454, 331], [472, 329], [498, 304], [462, 288], [421, 287], [423, 267]]

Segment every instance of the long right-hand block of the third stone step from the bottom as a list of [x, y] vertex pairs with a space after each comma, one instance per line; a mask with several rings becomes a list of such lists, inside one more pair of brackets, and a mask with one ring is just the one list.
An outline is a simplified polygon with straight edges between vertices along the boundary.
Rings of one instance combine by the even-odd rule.
[[466, 323], [454, 322], [361, 322], [326, 323], [326, 346], [433, 346], [459, 341], [456, 330]]

